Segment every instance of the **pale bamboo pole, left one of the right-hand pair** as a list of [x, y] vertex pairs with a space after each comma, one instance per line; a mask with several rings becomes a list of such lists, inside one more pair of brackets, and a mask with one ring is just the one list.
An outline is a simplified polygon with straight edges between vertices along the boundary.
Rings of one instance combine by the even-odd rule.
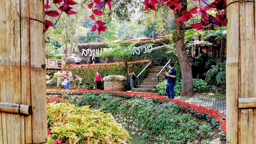
[[[235, 0], [227, 0], [227, 4]], [[238, 109], [239, 97], [239, 5], [233, 3], [227, 7], [227, 61], [226, 61], [226, 108], [227, 108], [227, 143], [238, 142]]]

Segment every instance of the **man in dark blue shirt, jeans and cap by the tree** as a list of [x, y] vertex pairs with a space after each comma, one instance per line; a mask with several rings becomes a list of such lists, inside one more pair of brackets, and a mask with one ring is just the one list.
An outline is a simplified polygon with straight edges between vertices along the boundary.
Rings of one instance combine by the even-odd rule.
[[[165, 71], [164, 73], [166, 74], [166, 76], [168, 76], [168, 84], [166, 85], [166, 89], [165, 91], [167, 92], [168, 98], [174, 99], [174, 86], [175, 86], [175, 82], [176, 82], [176, 69], [174, 68], [174, 64], [172, 62], [170, 62], [168, 64], [168, 67], [171, 69], [169, 74]], [[171, 94], [170, 94], [171, 92]]]

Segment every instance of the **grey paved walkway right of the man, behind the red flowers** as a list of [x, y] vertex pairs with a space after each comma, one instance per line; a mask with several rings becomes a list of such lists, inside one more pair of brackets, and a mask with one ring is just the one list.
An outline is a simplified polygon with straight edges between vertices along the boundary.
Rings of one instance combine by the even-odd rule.
[[206, 108], [218, 109], [220, 113], [226, 114], [226, 95], [215, 93], [200, 93], [195, 94], [192, 97], [188, 96], [176, 96], [174, 99], [186, 101], [197, 105], [202, 105]]

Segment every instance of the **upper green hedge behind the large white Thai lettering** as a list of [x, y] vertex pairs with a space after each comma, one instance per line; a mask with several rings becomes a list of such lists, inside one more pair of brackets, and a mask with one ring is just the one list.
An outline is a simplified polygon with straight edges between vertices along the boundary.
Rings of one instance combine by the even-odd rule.
[[[119, 41], [119, 42], [115, 42], [112, 44], [119, 44], [122, 46], [128, 46], [130, 44], [132, 44], [134, 41]], [[153, 47], [157, 47], [157, 46], [162, 46], [164, 44], [170, 44], [171, 41], [169, 39], [169, 37], [165, 37], [165, 38], [161, 38], [161, 39], [157, 39], [157, 40], [149, 40], [149, 41], [140, 41], [139, 44], [136, 44], [136, 47], [139, 47], [141, 45], [144, 44], [154, 44]], [[91, 43], [83, 43], [83, 44], [77, 44], [78, 47], [78, 52], [81, 54], [82, 53], [82, 49], [91, 49], [91, 50], [96, 50], [96, 49], [101, 49], [102, 50], [104, 48], [109, 48], [108, 45], [111, 45], [110, 42], [103, 42], [103, 43], [99, 43], [99, 44], [91, 44]], [[110, 46], [111, 47], [111, 46]], [[152, 52], [150, 53], [141, 53], [139, 55], [134, 54], [131, 58], [131, 61], [135, 61], [135, 60], [149, 60], [149, 59], [170, 59], [172, 57], [171, 53], [165, 53], [170, 51], [169, 48], [161, 48], [161, 49], [157, 49], [157, 50], [152, 50]], [[88, 63], [90, 59], [90, 56], [82, 56], [82, 61], [81, 64], [86, 64]], [[118, 62], [118, 60], [116, 58], [112, 58], [112, 57], [108, 57], [108, 58], [102, 58], [101, 62], [106, 63], [106, 62]], [[67, 61], [67, 64], [74, 64], [74, 60], [73, 61]]]

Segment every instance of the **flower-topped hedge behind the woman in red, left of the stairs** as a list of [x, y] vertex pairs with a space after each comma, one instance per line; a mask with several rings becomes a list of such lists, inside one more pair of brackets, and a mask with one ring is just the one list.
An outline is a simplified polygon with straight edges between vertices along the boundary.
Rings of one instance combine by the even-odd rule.
[[[128, 62], [128, 69], [133, 69], [135, 75], [138, 75], [148, 64], [149, 60], [138, 60]], [[63, 71], [72, 71], [73, 75], [80, 75], [83, 78], [82, 84], [88, 84], [93, 87], [94, 76], [96, 71], [100, 71], [102, 78], [108, 75], [126, 76], [124, 62], [99, 63], [99, 64], [81, 64], [81, 65], [65, 65]], [[146, 71], [141, 74], [141, 77], [146, 75]], [[142, 80], [142, 79], [141, 79]], [[127, 77], [130, 82], [130, 76]], [[134, 86], [138, 84], [138, 79], [135, 80]], [[104, 83], [102, 83], [102, 86]]]

